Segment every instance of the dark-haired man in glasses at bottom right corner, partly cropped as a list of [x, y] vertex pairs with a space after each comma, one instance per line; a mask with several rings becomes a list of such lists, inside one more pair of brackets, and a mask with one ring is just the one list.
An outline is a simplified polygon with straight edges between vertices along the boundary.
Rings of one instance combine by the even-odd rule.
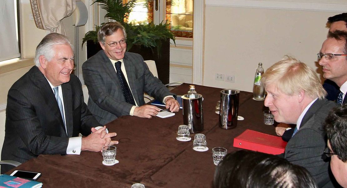
[[330, 168], [342, 187], [347, 187], [347, 105], [332, 110], [325, 119], [328, 147], [324, 151], [331, 157]]

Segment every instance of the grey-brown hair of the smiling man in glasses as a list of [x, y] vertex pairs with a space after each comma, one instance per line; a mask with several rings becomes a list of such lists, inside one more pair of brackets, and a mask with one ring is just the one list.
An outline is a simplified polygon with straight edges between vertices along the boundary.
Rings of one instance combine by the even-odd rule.
[[106, 36], [113, 35], [113, 33], [117, 32], [118, 29], [122, 29], [124, 37], [127, 38], [127, 33], [125, 32], [124, 26], [116, 21], [108, 22], [101, 26], [98, 32], [98, 41], [105, 45]]

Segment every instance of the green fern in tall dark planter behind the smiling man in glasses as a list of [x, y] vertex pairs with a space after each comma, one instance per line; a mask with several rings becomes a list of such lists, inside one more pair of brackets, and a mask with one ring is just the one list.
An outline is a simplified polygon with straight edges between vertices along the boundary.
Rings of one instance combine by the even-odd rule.
[[[168, 29], [168, 24], [153, 23], [135, 25], [127, 23], [130, 12], [135, 7], [136, 0], [93, 0], [94, 3], [107, 11], [105, 18], [119, 21], [127, 32], [127, 51], [141, 54], [144, 60], [154, 60], [158, 70], [158, 77], [164, 83], [169, 83], [170, 69], [170, 39], [175, 43], [175, 37]], [[98, 30], [101, 26], [96, 26], [95, 31], [89, 31], [82, 39], [83, 44], [87, 44], [87, 58], [93, 56], [101, 50], [98, 43]], [[176, 43], [175, 43], [176, 44]], [[91, 49], [89, 49], [91, 48]], [[89, 52], [89, 53], [88, 53]]]

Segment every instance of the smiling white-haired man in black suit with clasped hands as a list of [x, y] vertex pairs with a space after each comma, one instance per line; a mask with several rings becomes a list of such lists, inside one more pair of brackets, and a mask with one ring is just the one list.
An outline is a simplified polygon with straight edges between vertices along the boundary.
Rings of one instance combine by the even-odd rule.
[[[97, 152], [118, 143], [110, 138], [116, 133], [96, 127], [100, 124], [83, 101], [81, 82], [70, 75], [74, 52], [66, 36], [45, 36], [36, 48], [35, 64], [8, 92], [1, 160], [23, 163], [40, 154]], [[1, 165], [1, 173], [11, 168]]]

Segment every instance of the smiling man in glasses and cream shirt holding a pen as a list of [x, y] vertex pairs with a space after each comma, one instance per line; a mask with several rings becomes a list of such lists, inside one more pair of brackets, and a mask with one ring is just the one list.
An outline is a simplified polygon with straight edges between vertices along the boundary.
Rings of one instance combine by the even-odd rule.
[[101, 124], [124, 115], [156, 116], [160, 109], [145, 105], [144, 92], [163, 101], [171, 112], [179, 110], [175, 94], [153, 76], [141, 55], [126, 52], [126, 32], [120, 23], [104, 24], [98, 40], [103, 50], [84, 62], [82, 70], [88, 108]]

